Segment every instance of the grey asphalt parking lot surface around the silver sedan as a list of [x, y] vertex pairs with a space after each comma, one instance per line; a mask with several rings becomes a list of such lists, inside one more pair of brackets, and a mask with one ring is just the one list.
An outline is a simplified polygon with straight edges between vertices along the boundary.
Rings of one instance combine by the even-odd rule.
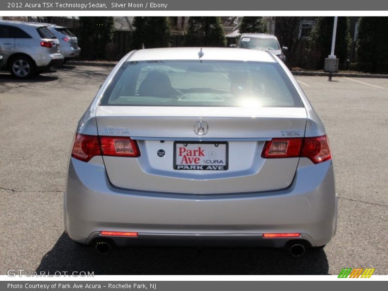
[[338, 229], [323, 250], [295, 259], [268, 248], [133, 247], [101, 257], [72, 242], [62, 210], [70, 144], [110, 70], [66, 65], [32, 81], [0, 73], [0, 274], [388, 274], [388, 79], [297, 77], [326, 125], [335, 164]]

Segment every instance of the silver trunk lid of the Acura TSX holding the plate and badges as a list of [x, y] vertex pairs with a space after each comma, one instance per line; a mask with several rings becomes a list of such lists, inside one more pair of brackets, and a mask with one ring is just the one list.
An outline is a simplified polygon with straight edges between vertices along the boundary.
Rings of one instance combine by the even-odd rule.
[[129, 136], [140, 149], [137, 158], [103, 157], [114, 186], [218, 194], [288, 187], [299, 158], [261, 152], [273, 138], [303, 137], [307, 116], [304, 108], [99, 106], [96, 118], [99, 135]]

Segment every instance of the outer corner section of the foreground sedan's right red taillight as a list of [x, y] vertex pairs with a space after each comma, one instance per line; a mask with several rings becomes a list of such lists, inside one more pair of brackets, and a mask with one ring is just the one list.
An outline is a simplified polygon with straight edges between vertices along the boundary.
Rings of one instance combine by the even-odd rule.
[[309, 158], [313, 163], [330, 160], [331, 153], [326, 135], [306, 137], [303, 142], [301, 157]]

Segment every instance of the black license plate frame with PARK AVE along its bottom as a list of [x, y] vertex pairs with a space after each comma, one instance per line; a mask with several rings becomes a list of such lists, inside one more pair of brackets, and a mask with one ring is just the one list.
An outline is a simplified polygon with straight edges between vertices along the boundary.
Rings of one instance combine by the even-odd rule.
[[[214, 165], [214, 164], [197, 164], [197, 165], [177, 165], [177, 145], [197, 145], [197, 146], [203, 146], [203, 145], [225, 145], [225, 164], [224, 165]], [[217, 147], [217, 146], [216, 146]], [[182, 170], [196, 170], [196, 171], [226, 171], [228, 170], [229, 164], [228, 164], [228, 157], [229, 157], [229, 147], [227, 142], [197, 142], [197, 141], [175, 141], [174, 142], [174, 156], [173, 156], [173, 168], [174, 170], [182, 171]], [[181, 167], [183, 166], [183, 168]], [[194, 167], [192, 167], [194, 166]], [[201, 168], [202, 167], [202, 168]]]

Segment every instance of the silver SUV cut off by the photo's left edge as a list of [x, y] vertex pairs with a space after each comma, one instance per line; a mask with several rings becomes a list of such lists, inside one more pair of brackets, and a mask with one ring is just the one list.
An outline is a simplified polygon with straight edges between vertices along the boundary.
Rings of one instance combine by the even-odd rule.
[[62, 65], [59, 40], [44, 24], [0, 20], [0, 54], [3, 69], [26, 79]]

